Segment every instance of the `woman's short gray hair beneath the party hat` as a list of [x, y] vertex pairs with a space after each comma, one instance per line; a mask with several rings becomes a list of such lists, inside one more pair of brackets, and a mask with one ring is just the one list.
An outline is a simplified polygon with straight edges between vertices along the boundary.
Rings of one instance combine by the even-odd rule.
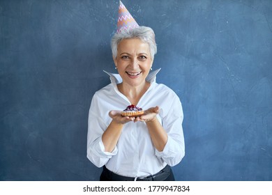
[[130, 29], [130, 31], [121, 31], [120, 33], [115, 33], [112, 37], [112, 56], [116, 59], [117, 47], [121, 40], [129, 38], [139, 38], [143, 42], [149, 44], [151, 58], [154, 59], [154, 55], [157, 53], [157, 45], [155, 41], [155, 33], [150, 27], [139, 26], [135, 29]]

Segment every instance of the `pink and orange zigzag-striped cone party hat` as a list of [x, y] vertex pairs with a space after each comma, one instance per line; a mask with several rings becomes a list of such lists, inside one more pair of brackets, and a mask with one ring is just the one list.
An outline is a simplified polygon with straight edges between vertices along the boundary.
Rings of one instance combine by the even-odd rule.
[[120, 33], [121, 31], [129, 31], [130, 29], [135, 29], [137, 27], [139, 27], [139, 25], [134, 20], [133, 16], [130, 15], [123, 3], [120, 1], [117, 33]]

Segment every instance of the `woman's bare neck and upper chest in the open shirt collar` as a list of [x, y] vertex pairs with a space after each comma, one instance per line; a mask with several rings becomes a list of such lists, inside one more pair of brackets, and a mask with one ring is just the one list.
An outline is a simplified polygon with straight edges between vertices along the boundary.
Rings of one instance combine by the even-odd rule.
[[147, 81], [140, 86], [129, 86], [128, 84], [121, 83], [118, 85], [118, 89], [130, 100], [131, 104], [137, 105], [142, 95], [149, 89], [149, 86], [150, 83]]

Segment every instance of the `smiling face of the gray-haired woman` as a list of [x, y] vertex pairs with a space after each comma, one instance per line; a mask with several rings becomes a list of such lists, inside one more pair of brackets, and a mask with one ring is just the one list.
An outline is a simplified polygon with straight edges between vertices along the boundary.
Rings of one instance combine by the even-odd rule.
[[123, 79], [123, 84], [144, 85], [153, 63], [149, 44], [138, 38], [121, 40], [114, 63]]

